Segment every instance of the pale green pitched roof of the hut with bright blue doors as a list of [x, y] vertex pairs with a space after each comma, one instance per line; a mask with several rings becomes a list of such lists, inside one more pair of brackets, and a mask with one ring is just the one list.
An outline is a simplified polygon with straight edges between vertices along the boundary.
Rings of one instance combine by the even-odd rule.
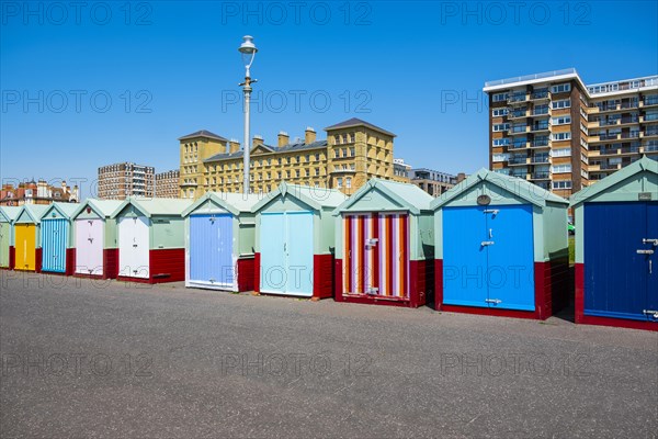
[[527, 180], [506, 176], [503, 173], [494, 172], [483, 168], [477, 173], [468, 176], [465, 180], [456, 184], [454, 188], [449, 189], [445, 193], [435, 199], [432, 202], [432, 209], [436, 210], [438, 207], [449, 203], [458, 194], [467, 191], [474, 185], [480, 183], [481, 181], [487, 181], [491, 184], [495, 184], [506, 190], [507, 192], [510, 192], [527, 201], [531, 204], [535, 204], [542, 207], [546, 205], [546, 201], [560, 204], [569, 204], [569, 202], [563, 199], [561, 196], [558, 196], [553, 192], [542, 189]]

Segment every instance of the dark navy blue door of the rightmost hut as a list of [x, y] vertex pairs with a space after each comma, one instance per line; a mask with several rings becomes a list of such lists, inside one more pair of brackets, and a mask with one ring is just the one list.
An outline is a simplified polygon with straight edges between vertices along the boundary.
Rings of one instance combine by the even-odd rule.
[[585, 204], [586, 315], [654, 319], [646, 311], [658, 311], [649, 306], [656, 303], [654, 266], [658, 247], [643, 239], [658, 239], [657, 204]]

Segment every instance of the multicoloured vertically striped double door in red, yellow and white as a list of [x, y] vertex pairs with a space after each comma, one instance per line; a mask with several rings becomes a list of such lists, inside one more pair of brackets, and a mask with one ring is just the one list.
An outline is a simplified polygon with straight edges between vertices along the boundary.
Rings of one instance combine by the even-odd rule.
[[409, 216], [343, 216], [343, 292], [409, 299]]

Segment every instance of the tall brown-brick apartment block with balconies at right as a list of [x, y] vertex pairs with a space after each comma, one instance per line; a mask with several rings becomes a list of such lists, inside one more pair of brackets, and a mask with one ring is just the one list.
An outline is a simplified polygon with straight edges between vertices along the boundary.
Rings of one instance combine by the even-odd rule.
[[658, 158], [658, 76], [586, 86], [576, 69], [485, 83], [489, 166], [569, 196]]

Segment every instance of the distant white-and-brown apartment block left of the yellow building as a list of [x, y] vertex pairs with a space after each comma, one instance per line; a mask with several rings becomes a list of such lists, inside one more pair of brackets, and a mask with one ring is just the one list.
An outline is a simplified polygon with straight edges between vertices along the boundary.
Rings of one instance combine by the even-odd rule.
[[127, 196], [155, 195], [155, 169], [150, 166], [123, 162], [99, 168], [98, 198], [125, 200]]

